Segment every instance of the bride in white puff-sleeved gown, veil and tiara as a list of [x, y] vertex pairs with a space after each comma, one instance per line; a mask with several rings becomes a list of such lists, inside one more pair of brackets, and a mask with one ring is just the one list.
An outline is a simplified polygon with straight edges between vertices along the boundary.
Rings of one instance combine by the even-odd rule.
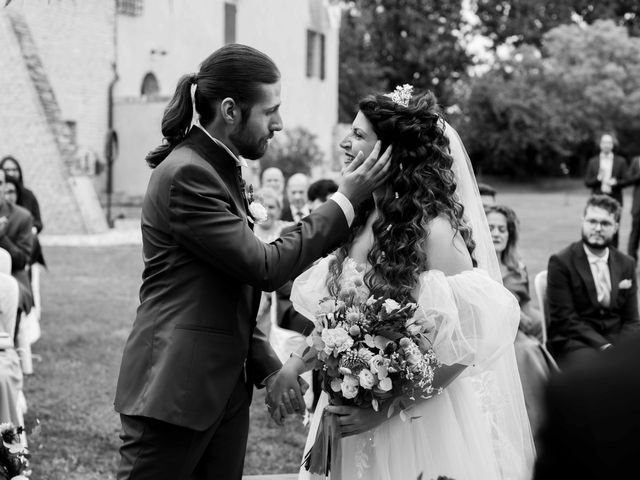
[[[322, 414], [341, 426], [342, 479], [510, 480], [532, 476], [534, 448], [513, 342], [516, 299], [502, 286], [468, 157], [439, 116], [431, 93], [412, 87], [363, 99], [340, 143], [348, 165], [381, 142], [392, 146], [390, 180], [356, 212], [350, 240], [295, 282], [291, 299], [313, 319], [319, 301], [337, 291], [343, 269], [364, 265], [376, 297], [415, 301], [430, 322], [442, 362], [442, 393], [413, 402], [406, 415], [382, 406], [333, 406], [323, 393], [305, 452]], [[311, 368], [315, 352], [292, 355], [283, 370]], [[323, 412], [324, 409], [324, 412]], [[301, 479], [319, 479], [303, 469]]]

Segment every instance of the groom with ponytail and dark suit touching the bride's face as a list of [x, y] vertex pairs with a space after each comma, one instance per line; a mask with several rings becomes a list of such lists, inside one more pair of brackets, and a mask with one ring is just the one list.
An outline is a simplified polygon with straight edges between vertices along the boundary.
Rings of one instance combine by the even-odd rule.
[[[193, 89], [200, 122], [191, 127]], [[346, 238], [389, 153], [360, 155], [332, 200], [265, 244], [253, 234], [239, 172], [282, 129], [279, 107], [273, 61], [227, 45], [180, 80], [165, 110], [165, 144], [147, 157], [155, 169], [142, 207], [140, 306], [115, 399], [119, 480], [239, 480], [253, 385], [267, 387], [276, 421], [304, 406], [298, 379], [274, 375], [281, 363], [256, 328], [260, 292]]]

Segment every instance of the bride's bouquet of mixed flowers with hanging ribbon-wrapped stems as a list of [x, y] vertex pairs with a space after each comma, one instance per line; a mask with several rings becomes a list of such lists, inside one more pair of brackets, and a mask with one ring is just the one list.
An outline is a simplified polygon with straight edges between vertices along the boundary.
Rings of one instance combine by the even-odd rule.
[[[321, 300], [307, 343], [315, 349], [323, 390], [334, 405], [387, 408], [407, 419], [403, 402], [430, 398], [439, 362], [424, 317], [413, 302], [375, 298], [364, 285], [364, 268], [347, 260], [336, 296]], [[325, 415], [303, 465], [328, 474], [339, 461], [339, 426]]]

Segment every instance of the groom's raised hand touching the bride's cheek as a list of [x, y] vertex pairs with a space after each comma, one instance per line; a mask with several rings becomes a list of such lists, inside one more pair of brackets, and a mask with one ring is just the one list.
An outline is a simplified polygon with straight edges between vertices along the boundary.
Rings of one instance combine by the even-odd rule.
[[371, 154], [364, 160], [362, 152], [342, 171], [342, 183], [338, 192], [346, 196], [356, 206], [369, 198], [374, 190], [387, 179], [391, 165], [391, 145], [380, 155], [381, 142], [378, 140]]

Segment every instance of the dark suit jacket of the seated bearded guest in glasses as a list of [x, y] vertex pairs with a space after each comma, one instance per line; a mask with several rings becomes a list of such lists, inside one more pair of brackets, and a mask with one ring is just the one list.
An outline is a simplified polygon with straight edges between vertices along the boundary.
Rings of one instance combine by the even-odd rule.
[[581, 241], [549, 258], [547, 346], [559, 362], [579, 349], [615, 344], [640, 328], [633, 259], [610, 247], [609, 274], [611, 301], [603, 307]]

